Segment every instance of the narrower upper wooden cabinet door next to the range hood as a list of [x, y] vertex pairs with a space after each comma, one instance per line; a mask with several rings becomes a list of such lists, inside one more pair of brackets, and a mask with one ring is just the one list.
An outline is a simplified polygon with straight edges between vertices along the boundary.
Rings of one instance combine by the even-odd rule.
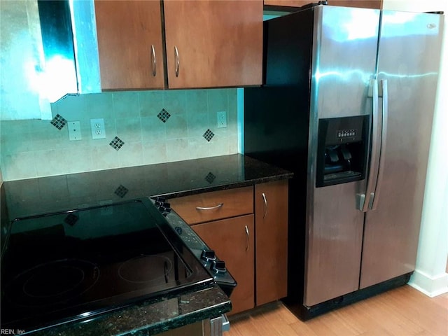
[[103, 90], [163, 88], [160, 1], [95, 1]]

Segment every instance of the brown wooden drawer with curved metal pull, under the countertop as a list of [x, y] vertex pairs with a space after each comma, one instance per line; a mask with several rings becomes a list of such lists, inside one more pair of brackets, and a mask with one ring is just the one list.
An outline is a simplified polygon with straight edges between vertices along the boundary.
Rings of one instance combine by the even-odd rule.
[[169, 203], [190, 225], [253, 214], [253, 187], [173, 198]]

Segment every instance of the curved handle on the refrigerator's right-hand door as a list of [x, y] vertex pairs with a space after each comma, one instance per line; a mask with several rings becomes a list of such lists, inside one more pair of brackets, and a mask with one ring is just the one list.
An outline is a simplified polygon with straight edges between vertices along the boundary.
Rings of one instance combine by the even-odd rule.
[[387, 80], [381, 80], [381, 93], [380, 97], [382, 99], [382, 111], [381, 111], [381, 148], [379, 154], [379, 169], [378, 169], [378, 177], [377, 177], [377, 186], [374, 190], [374, 197], [371, 204], [369, 204], [369, 208], [374, 210], [377, 209], [378, 200], [379, 200], [379, 190], [381, 189], [381, 183], [383, 181], [383, 172], [384, 172], [384, 156], [386, 153], [386, 137], [387, 137], [387, 117], [388, 117], [388, 88], [387, 88]]

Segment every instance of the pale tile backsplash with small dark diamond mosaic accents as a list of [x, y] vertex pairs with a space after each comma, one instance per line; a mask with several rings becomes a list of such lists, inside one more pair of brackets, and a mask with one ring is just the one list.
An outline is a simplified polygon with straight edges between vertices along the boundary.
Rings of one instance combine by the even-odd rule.
[[[218, 111], [227, 112], [225, 128]], [[238, 153], [237, 89], [67, 96], [52, 116], [1, 121], [4, 181]], [[92, 139], [95, 118], [104, 118], [104, 139]], [[80, 122], [82, 139], [69, 140], [64, 120]]]

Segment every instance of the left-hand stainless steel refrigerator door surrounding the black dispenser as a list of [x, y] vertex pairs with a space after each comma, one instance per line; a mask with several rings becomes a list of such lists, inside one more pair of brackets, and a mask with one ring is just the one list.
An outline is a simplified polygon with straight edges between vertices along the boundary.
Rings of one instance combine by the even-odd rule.
[[358, 289], [364, 213], [362, 181], [316, 188], [318, 120], [372, 113], [379, 10], [319, 6], [314, 16], [309, 125], [304, 304]]

